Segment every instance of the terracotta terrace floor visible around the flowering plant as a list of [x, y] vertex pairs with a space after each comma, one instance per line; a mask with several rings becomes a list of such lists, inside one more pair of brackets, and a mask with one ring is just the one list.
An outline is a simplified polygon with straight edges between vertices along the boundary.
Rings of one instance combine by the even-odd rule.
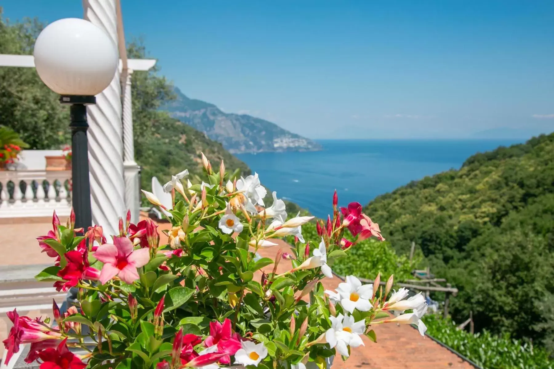
[[[65, 220], [61, 220], [62, 224]], [[170, 225], [161, 223], [161, 229], [167, 229]], [[0, 223], [0, 266], [6, 265], [30, 265], [48, 264], [52, 262], [46, 254], [40, 252], [36, 237], [45, 235], [52, 229], [50, 219], [27, 219], [25, 221], [3, 220]], [[165, 240], [161, 240], [164, 242]], [[280, 240], [274, 240], [279, 246], [260, 250], [264, 257], [273, 258], [279, 248], [286, 249], [289, 246]], [[271, 266], [270, 266], [271, 267]], [[270, 268], [268, 267], [268, 268]], [[282, 273], [290, 269], [290, 261], [283, 260], [279, 263], [278, 272]], [[334, 277], [322, 281], [326, 289], [335, 289], [340, 279]], [[25, 311], [29, 316], [48, 316], [51, 310]], [[11, 322], [6, 314], [0, 314], [0, 341], [4, 340], [11, 328]], [[364, 337], [365, 347], [352, 350], [352, 355], [347, 362], [335, 360], [334, 369], [350, 368], [386, 368], [386, 369], [419, 369], [419, 368], [473, 368], [469, 363], [430, 340], [423, 338], [419, 332], [407, 325], [376, 325], [377, 343]], [[0, 357], [3, 353], [3, 345], [0, 345]]]

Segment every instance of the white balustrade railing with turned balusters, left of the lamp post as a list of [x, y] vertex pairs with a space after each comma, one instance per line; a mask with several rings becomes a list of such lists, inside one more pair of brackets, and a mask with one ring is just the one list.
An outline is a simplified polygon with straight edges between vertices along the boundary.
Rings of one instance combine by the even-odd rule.
[[0, 218], [71, 212], [70, 170], [0, 170]]

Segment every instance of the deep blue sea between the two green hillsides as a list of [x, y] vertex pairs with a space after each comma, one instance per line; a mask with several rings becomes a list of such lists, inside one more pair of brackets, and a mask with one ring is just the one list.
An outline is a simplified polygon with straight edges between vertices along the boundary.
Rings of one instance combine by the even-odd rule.
[[[332, 212], [335, 189], [340, 206], [367, 204], [412, 180], [459, 169], [478, 152], [525, 142], [479, 140], [321, 140], [321, 151], [237, 154], [261, 183], [318, 217]], [[271, 194], [268, 193], [268, 196]]]

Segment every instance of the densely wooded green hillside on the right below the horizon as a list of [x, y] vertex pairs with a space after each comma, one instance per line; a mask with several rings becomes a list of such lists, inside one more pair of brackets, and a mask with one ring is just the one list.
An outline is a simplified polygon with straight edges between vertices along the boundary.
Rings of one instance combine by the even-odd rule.
[[[554, 349], [554, 134], [468, 158], [365, 207], [398, 253], [412, 241], [460, 290], [455, 321]], [[440, 299], [440, 297], [437, 297]]]

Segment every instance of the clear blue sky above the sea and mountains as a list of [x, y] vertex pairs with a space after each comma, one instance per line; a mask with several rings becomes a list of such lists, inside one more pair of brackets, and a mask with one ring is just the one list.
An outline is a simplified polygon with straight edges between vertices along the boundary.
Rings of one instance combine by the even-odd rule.
[[[307, 137], [554, 131], [551, 0], [121, 3], [127, 40], [143, 37], [186, 95]], [[83, 15], [78, 0], [2, 6]]]

